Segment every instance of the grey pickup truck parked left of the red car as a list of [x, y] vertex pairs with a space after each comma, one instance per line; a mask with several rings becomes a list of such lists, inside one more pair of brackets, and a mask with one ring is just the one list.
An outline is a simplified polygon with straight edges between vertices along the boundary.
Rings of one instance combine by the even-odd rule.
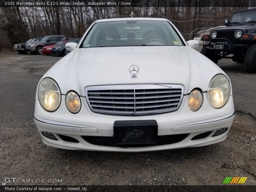
[[42, 54], [42, 47], [47, 45], [53, 45], [60, 41], [62, 38], [66, 38], [64, 35], [51, 35], [44, 36], [41, 41], [27, 43], [26, 50], [32, 54]]

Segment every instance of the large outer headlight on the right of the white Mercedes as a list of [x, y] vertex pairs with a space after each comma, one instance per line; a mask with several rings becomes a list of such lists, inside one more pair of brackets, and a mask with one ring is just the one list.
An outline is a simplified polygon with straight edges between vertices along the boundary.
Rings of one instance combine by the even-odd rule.
[[212, 78], [207, 91], [209, 103], [214, 108], [222, 108], [229, 99], [230, 83], [224, 75], [216, 75]]

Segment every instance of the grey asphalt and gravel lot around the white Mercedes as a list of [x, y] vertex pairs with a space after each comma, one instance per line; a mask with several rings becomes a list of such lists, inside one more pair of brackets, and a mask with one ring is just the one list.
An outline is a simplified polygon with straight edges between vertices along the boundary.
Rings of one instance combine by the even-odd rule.
[[[6, 177], [61, 179], [57, 185], [221, 185], [248, 177], [256, 185], [256, 74], [220, 60], [230, 77], [236, 117], [218, 144], [176, 150], [116, 153], [69, 151], [44, 145], [33, 121], [36, 86], [58, 56], [0, 55], [0, 182]], [[6, 183], [6, 185], [26, 183]]]

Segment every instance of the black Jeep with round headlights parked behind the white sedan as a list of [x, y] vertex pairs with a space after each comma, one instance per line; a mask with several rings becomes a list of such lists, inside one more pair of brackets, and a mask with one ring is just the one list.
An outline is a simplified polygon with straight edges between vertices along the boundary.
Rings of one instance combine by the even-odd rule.
[[[256, 9], [236, 11], [230, 21], [224, 20], [226, 27], [211, 31], [201, 40], [201, 53], [217, 63], [222, 58], [244, 63], [249, 73], [256, 73]], [[228, 56], [233, 54], [233, 56]]]

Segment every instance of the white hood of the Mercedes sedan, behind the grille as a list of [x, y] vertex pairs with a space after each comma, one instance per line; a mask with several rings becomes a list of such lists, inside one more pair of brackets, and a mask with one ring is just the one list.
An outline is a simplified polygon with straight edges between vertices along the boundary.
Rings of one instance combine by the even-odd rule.
[[[137, 78], [129, 72], [131, 65], [139, 68]], [[58, 83], [62, 94], [73, 90], [85, 96], [87, 86], [116, 84], [181, 84], [184, 94], [195, 88], [205, 92], [220, 73], [217, 65], [191, 47], [140, 46], [76, 48], [45, 76]]]

